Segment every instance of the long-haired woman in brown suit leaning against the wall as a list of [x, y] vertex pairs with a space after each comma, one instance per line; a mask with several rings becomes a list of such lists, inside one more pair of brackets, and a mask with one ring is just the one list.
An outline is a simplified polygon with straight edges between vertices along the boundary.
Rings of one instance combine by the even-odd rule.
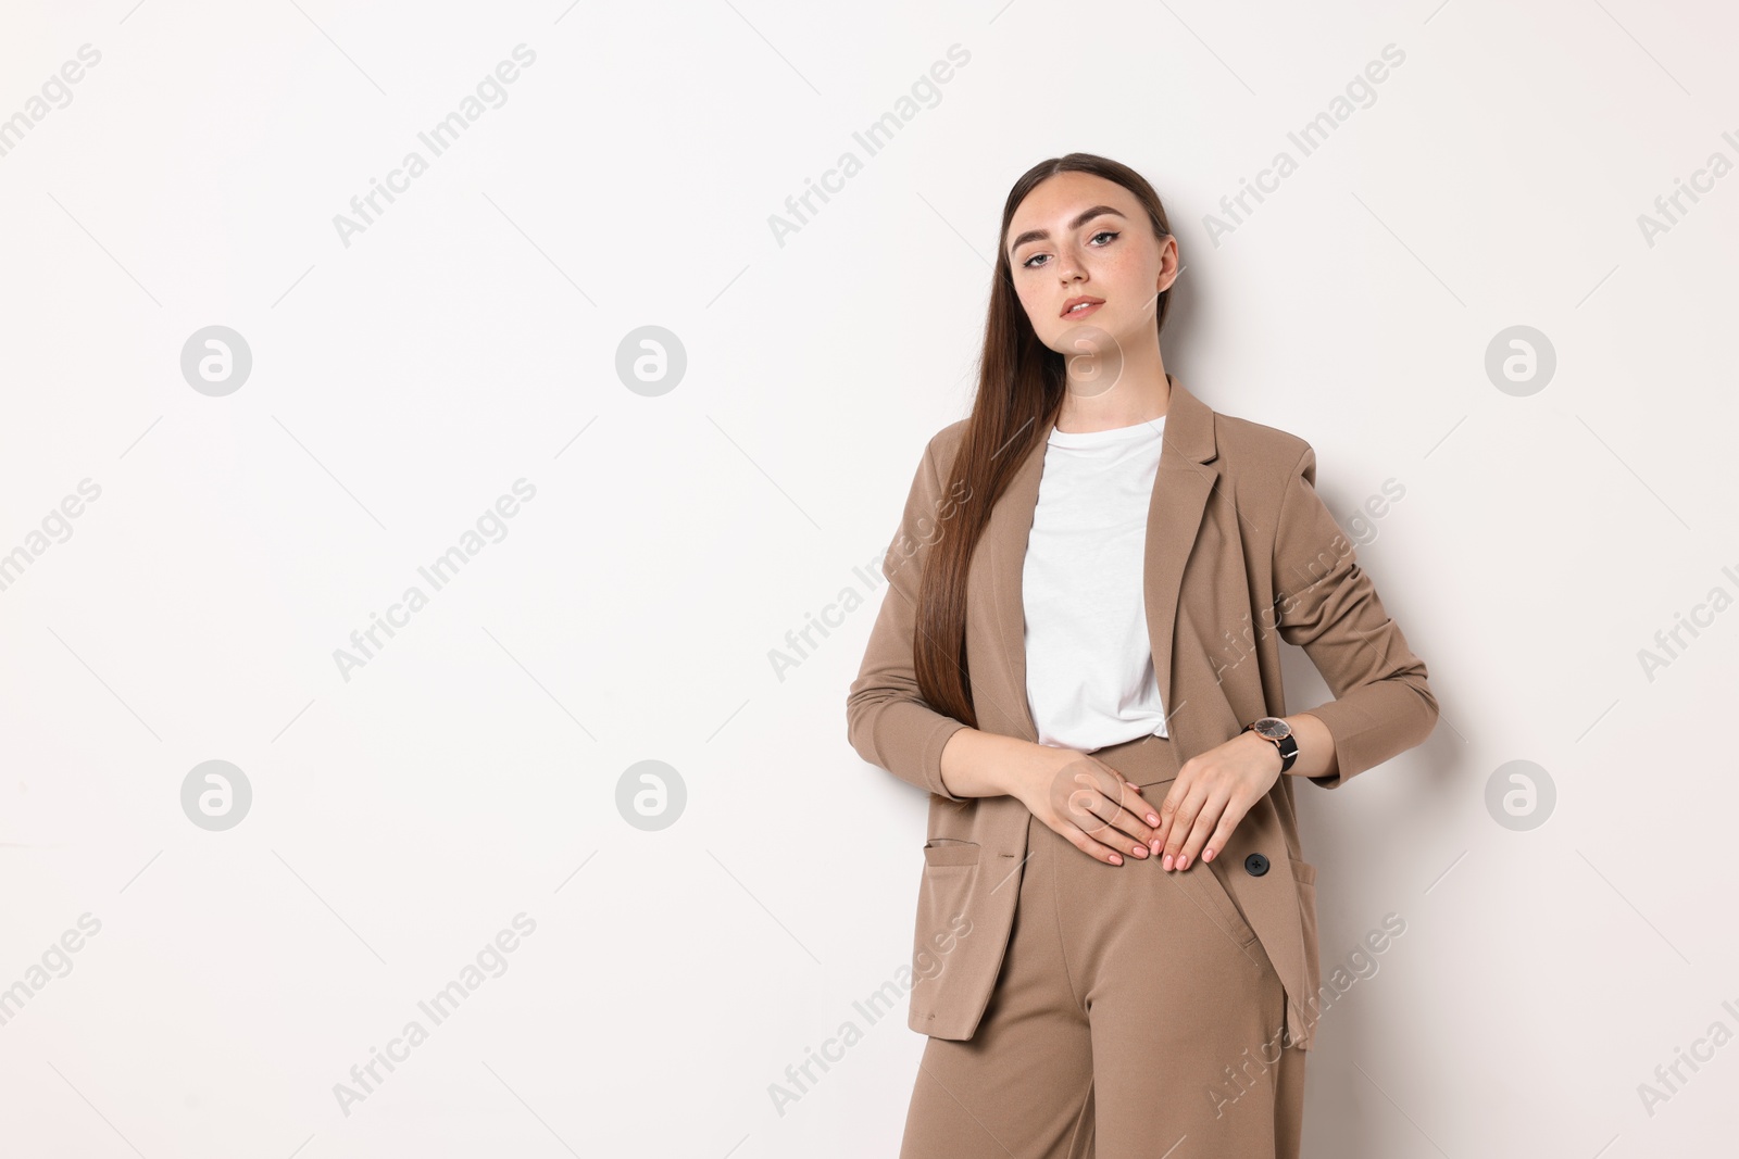
[[[1043, 162], [1000, 238], [847, 700], [932, 794], [901, 1154], [1296, 1157], [1325, 1003], [1294, 784], [1417, 745], [1436, 699], [1309, 445], [1165, 372], [1151, 186]], [[1280, 639], [1334, 700], [1285, 716]]]

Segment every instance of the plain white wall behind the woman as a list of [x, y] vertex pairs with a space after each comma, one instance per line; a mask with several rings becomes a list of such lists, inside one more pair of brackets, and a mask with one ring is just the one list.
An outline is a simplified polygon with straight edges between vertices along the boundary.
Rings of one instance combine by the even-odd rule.
[[[1322, 1023], [1304, 1154], [1732, 1147], [1739, 1046], [1638, 1095], [1739, 1030], [1739, 610], [1638, 660], [1739, 594], [1739, 176], [1638, 228], [1739, 160], [1720, 5], [3, 21], [0, 118], [80, 45], [101, 63], [0, 156], [0, 553], [101, 497], [0, 591], [0, 987], [45, 982], [0, 1025], [0, 1150], [896, 1154], [923, 1037], [852, 1003], [908, 959], [925, 799], [843, 716], [880, 596], [783, 679], [770, 655], [863, 591], [969, 405], [1003, 196], [1073, 149], [1165, 200], [1167, 368], [1308, 438], [1343, 521], [1405, 487], [1360, 560], [1443, 716], [1301, 794], [1325, 978], [1407, 923]], [[334, 215], [518, 43], [506, 103], [346, 247]], [[1374, 101], [1216, 245], [1221, 198], [1388, 43]], [[847, 149], [863, 172], [781, 243]], [[181, 374], [209, 325], [254, 360], [221, 398]], [[659, 396], [616, 370], [643, 325], [687, 356]], [[1525, 398], [1485, 372], [1513, 325], [1558, 360]], [[334, 650], [520, 478], [506, 537], [346, 681]], [[1322, 700], [1287, 659], [1290, 709]], [[181, 806], [209, 759], [254, 794], [224, 832]], [[617, 808], [645, 759], [687, 794], [654, 832]], [[1558, 792], [1525, 832], [1485, 806], [1515, 759]], [[506, 971], [344, 1114], [334, 1086], [520, 912]]]

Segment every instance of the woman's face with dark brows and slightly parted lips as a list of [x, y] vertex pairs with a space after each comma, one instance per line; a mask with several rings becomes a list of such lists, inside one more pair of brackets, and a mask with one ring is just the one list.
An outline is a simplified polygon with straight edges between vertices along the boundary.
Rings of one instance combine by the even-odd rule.
[[1096, 335], [1123, 349], [1144, 334], [1158, 341], [1153, 306], [1177, 278], [1177, 242], [1153, 236], [1123, 186], [1092, 174], [1045, 177], [1014, 210], [1003, 243], [1014, 290], [1050, 349], [1073, 354]]

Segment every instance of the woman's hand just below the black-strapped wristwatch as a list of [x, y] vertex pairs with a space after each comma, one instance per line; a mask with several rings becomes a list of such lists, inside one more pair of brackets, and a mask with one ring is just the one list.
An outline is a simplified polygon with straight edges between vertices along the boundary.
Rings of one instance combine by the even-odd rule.
[[1280, 780], [1280, 749], [1252, 732], [1243, 732], [1177, 770], [1177, 780], [1160, 803], [1158, 838], [1153, 855], [1162, 869], [1188, 869], [1196, 853], [1203, 862], [1226, 848], [1250, 806]]

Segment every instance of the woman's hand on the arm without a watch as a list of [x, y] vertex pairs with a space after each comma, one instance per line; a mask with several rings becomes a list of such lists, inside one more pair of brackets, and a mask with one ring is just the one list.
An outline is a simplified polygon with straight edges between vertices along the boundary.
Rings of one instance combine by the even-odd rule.
[[[1266, 744], [1266, 742], [1263, 742]], [[1104, 761], [1076, 749], [1031, 745], [1029, 765], [1010, 794], [1076, 850], [1122, 865], [1123, 851], [1148, 857], [1158, 848], [1158, 811]]]

